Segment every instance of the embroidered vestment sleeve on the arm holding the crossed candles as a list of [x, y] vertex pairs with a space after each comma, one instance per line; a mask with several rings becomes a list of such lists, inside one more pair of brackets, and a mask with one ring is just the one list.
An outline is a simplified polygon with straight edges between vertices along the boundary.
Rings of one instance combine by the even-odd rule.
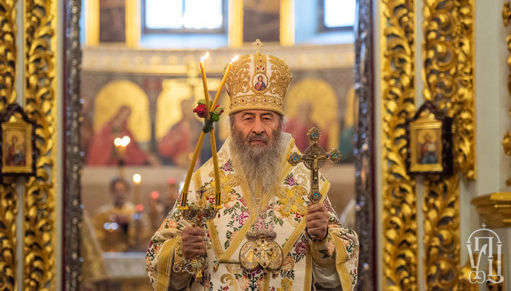
[[[195, 193], [192, 185], [189, 193]], [[194, 195], [188, 195], [189, 203], [195, 200], [191, 196]], [[172, 271], [172, 266], [182, 260], [182, 229], [191, 226], [190, 222], [181, 216], [180, 210], [177, 210], [180, 200], [181, 198], [177, 198], [174, 208], [151, 238], [145, 255], [145, 269], [154, 290], [180, 290], [187, 287], [191, 278], [188, 273]]]

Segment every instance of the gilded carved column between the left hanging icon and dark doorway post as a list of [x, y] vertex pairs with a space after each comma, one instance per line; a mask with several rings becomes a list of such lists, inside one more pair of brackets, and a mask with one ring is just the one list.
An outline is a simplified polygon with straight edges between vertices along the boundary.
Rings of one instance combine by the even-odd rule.
[[57, 105], [55, 101], [57, 1], [28, 0], [25, 11], [25, 111], [37, 125], [36, 176], [25, 186], [23, 286], [55, 289], [55, 187]]

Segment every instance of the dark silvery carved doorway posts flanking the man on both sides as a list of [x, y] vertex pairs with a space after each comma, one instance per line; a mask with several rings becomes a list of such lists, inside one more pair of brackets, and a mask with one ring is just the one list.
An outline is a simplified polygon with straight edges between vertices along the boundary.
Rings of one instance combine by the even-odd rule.
[[[375, 260], [375, 187], [373, 130], [373, 6], [370, 0], [357, 1], [355, 90], [358, 98], [358, 123], [354, 135], [356, 156], [356, 223], [361, 243], [357, 290], [372, 290], [376, 284]], [[79, 253], [82, 224], [81, 170], [79, 147], [80, 112], [79, 73], [82, 52], [79, 42], [80, 0], [65, 1], [65, 164], [64, 164], [64, 242], [63, 286], [79, 290], [82, 258]]]

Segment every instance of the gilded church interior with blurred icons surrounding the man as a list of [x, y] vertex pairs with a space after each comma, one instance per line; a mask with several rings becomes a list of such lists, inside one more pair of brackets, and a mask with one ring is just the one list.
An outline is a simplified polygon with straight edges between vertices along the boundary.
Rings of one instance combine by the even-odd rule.
[[342, 154], [320, 171], [358, 234], [356, 290], [511, 290], [507, 0], [0, 8], [0, 290], [152, 290], [150, 237], [229, 137], [219, 91], [193, 164], [192, 110], [255, 50], [292, 72], [282, 130]]

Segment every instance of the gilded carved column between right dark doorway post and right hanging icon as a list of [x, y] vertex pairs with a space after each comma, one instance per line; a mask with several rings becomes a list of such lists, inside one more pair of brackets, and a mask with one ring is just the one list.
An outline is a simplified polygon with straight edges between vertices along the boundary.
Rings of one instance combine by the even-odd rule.
[[407, 175], [405, 124], [414, 106], [414, 1], [381, 4], [383, 55], [383, 263], [388, 290], [417, 289], [415, 182]]

